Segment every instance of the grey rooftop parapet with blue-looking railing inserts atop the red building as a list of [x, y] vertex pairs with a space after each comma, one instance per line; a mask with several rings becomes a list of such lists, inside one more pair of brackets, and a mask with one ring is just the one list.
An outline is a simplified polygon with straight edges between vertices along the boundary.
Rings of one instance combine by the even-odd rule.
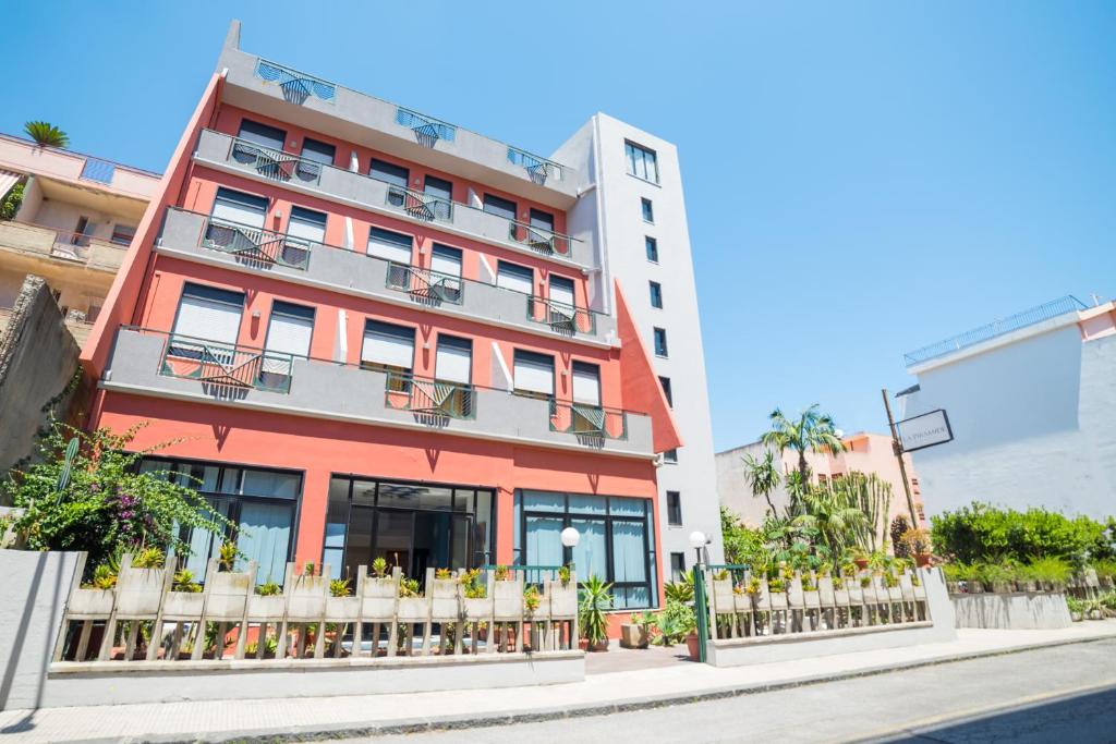
[[225, 103], [338, 139], [359, 142], [521, 194], [556, 209], [577, 200], [574, 168], [443, 119], [358, 93], [239, 49], [225, 49]]

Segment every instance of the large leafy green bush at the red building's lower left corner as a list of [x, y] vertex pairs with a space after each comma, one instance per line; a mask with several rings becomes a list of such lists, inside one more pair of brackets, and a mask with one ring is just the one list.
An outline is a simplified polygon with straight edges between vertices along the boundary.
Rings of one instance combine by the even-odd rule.
[[[145, 547], [189, 555], [184, 530], [224, 534], [228, 520], [210, 511], [193, 489], [165, 472], [138, 471], [144, 455], [167, 446], [127, 452], [142, 426], [113, 434], [54, 423], [39, 439], [40, 462], [13, 468], [0, 484], [0, 495], [17, 508], [0, 520], [0, 534], [10, 526], [28, 550], [87, 551], [89, 571], [113, 555]], [[77, 437], [79, 446], [69, 481], [59, 492], [70, 437]]]

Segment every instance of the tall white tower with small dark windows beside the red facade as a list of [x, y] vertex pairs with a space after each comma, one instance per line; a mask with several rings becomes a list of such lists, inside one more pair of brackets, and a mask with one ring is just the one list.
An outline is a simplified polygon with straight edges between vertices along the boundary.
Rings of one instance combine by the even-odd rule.
[[[625, 139], [655, 151], [658, 184], [627, 173]], [[599, 307], [612, 309], [608, 288], [615, 279], [624, 290], [648, 350], [654, 350], [652, 329], [666, 329], [670, 356], [655, 357], [654, 366], [657, 375], [671, 378], [674, 418], [685, 443], [679, 450], [677, 464], [658, 468], [661, 524], [657, 526], [663, 538], [660, 570], [668, 581], [672, 552], [683, 553], [686, 566], [692, 566], [694, 551], [689, 535], [694, 530], [712, 538], [710, 557], [714, 562], [722, 560], [705, 361], [677, 151], [664, 139], [597, 114], [555, 157], [577, 167], [584, 164], [585, 173], [590, 174], [596, 186], [583, 191], [578, 206], [570, 212], [570, 230], [583, 239], [586, 239], [583, 231], [586, 235], [596, 233], [602, 270], [593, 283], [600, 291]], [[653, 224], [643, 220], [641, 197], [652, 200]], [[657, 264], [647, 261], [646, 235], [658, 241]], [[651, 307], [650, 281], [663, 288], [663, 309]], [[666, 491], [681, 493], [681, 525], [667, 523]]]

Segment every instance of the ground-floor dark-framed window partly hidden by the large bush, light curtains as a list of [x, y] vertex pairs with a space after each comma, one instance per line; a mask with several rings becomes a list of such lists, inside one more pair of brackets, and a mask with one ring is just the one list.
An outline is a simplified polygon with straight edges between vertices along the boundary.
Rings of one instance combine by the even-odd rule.
[[299, 473], [241, 468], [200, 462], [144, 457], [140, 472], [177, 481], [195, 489], [209, 508], [237, 526], [225, 535], [205, 530], [183, 530], [192, 554], [185, 568], [204, 578], [209, 559], [218, 554], [225, 539], [235, 539], [237, 570], [248, 561], [258, 563], [256, 581], [281, 583], [295, 545], [295, 510], [302, 492]]

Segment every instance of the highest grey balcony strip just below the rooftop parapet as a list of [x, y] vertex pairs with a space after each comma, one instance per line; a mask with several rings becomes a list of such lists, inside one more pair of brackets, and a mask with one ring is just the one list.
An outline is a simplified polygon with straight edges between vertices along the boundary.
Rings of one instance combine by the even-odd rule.
[[403, 214], [416, 222], [436, 223], [446, 232], [518, 251], [541, 253], [578, 269], [593, 268], [593, 251], [579, 240], [507, 220], [468, 204], [377, 181], [360, 173], [302, 160], [261, 147], [231, 135], [204, 129], [194, 153], [196, 161], [219, 170], [282, 183], [343, 204]]

